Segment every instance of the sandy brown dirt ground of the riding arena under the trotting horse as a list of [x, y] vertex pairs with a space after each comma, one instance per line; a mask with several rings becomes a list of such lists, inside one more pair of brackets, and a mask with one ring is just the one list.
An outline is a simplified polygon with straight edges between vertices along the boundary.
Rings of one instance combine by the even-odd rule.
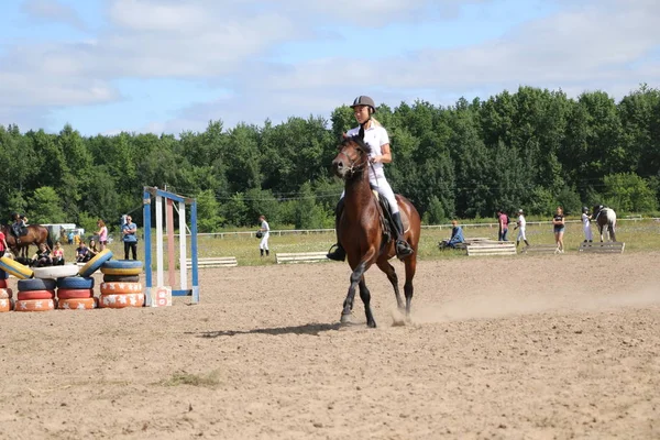
[[376, 267], [378, 328], [359, 296], [340, 327], [348, 279], [204, 270], [197, 306], [0, 314], [0, 438], [660, 438], [660, 252], [420, 262], [403, 327]]

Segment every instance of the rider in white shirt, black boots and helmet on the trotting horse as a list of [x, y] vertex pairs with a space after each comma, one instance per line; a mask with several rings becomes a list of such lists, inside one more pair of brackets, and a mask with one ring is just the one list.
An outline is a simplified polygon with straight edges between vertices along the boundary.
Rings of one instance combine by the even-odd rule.
[[[385, 170], [383, 164], [392, 162], [392, 152], [389, 150], [389, 136], [387, 130], [381, 125], [372, 116], [376, 112], [376, 105], [374, 100], [367, 96], [359, 96], [351, 106], [355, 120], [360, 124], [354, 129], [349, 130], [345, 134], [346, 138], [355, 136], [360, 133], [360, 130], [364, 130], [364, 143], [369, 144], [372, 152], [370, 154], [370, 162], [372, 166], [369, 169], [369, 182], [374, 187], [381, 197], [384, 197], [389, 202], [392, 209], [392, 219], [394, 220], [394, 227], [396, 229], [396, 255], [399, 258], [405, 258], [413, 254], [413, 249], [404, 239], [404, 226], [402, 223], [402, 216], [399, 212], [398, 204], [394, 197], [394, 191], [389, 186], [389, 183], [385, 178]], [[338, 231], [339, 220], [343, 212], [343, 194], [337, 204], [334, 230]], [[344, 261], [346, 252], [341, 246], [341, 243], [334, 244], [332, 248], [337, 248], [333, 252], [328, 252], [327, 257], [334, 261]], [[331, 249], [332, 249], [331, 248]]]

